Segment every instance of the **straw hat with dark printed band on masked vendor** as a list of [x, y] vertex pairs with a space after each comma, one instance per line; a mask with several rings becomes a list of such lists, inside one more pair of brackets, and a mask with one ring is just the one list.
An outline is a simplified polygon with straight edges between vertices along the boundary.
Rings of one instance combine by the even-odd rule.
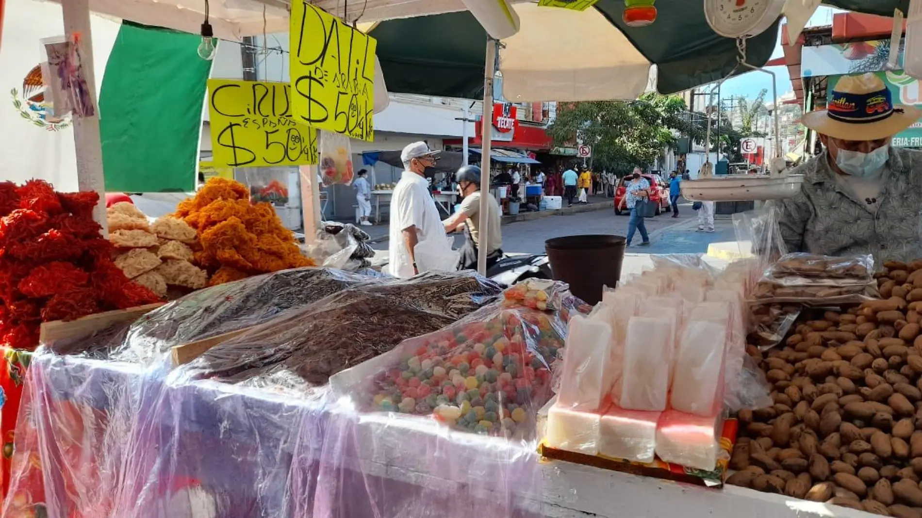
[[876, 74], [844, 76], [829, 95], [826, 110], [803, 116], [802, 123], [821, 135], [843, 140], [877, 140], [916, 123], [922, 111], [893, 105], [892, 95]]

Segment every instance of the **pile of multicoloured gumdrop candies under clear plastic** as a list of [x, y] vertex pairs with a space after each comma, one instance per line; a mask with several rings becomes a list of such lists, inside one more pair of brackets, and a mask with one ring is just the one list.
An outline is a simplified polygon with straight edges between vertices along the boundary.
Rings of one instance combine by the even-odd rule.
[[565, 284], [546, 288], [559, 296], [559, 311], [503, 300], [405, 340], [330, 383], [360, 411], [432, 416], [455, 430], [531, 440], [562, 363], [569, 315], [588, 309]]

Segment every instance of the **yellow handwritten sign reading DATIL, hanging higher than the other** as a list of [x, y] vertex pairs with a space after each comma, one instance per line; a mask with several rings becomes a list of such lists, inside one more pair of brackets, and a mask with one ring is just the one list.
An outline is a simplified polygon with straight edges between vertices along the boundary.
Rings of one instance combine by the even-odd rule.
[[291, 109], [295, 119], [374, 140], [374, 52], [378, 42], [341, 19], [291, 3]]

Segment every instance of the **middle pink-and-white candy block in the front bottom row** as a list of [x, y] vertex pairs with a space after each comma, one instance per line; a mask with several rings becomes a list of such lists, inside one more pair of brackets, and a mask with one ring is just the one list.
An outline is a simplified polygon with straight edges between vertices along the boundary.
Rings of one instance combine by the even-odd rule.
[[632, 462], [653, 462], [656, 422], [661, 414], [609, 406], [599, 420], [598, 453]]

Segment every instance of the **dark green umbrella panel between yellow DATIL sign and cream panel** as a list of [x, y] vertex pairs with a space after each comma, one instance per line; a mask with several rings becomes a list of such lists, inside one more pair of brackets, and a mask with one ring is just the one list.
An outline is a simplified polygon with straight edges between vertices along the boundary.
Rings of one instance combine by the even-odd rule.
[[370, 34], [389, 91], [483, 96], [487, 31], [469, 11], [387, 20]]

